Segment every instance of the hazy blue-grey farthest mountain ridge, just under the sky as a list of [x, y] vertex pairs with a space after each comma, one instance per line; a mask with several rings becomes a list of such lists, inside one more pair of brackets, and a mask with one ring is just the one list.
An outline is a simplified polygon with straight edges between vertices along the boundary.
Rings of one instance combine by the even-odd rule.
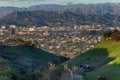
[[73, 4], [73, 5], [56, 5], [56, 4], [41, 4], [34, 5], [28, 8], [17, 8], [17, 7], [0, 7], [0, 17], [17, 11], [69, 11], [77, 14], [119, 14], [120, 5], [115, 3], [101, 3], [101, 4]]

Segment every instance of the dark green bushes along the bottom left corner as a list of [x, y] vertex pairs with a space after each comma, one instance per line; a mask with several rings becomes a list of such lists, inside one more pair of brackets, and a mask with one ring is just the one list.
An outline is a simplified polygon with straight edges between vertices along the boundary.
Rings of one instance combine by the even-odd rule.
[[17, 71], [6, 69], [0, 71], [0, 80], [41, 80], [43, 77], [40, 70]]

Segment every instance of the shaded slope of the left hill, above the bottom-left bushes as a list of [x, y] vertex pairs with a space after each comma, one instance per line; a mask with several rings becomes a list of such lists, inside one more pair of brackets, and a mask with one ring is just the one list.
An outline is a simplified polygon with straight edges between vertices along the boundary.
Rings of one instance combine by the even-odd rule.
[[40, 68], [48, 61], [60, 60], [54, 54], [30, 46], [0, 47], [0, 58], [0, 63], [14, 68]]

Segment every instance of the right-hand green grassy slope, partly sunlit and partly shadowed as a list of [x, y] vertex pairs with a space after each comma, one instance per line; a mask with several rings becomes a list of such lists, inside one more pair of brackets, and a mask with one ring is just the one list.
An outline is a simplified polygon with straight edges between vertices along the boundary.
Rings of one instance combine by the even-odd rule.
[[[89, 58], [89, 60], [87, 60]], [[89, 64], [95, 70], [87, 72], [84, 80], [96, 80], [97, 76], [107, 76], [109, 80], [120, 79], [120, 42], [105, 41], [95, 48], [78, 55], [69, 65]]]

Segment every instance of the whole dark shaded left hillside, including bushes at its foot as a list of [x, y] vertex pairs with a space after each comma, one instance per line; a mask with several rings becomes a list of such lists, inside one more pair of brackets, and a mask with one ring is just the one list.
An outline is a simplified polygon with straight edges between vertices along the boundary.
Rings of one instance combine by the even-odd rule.
[[33, 46], [0, 46], [0, 80], [41, 80], [49, 61], [65, 60]]

